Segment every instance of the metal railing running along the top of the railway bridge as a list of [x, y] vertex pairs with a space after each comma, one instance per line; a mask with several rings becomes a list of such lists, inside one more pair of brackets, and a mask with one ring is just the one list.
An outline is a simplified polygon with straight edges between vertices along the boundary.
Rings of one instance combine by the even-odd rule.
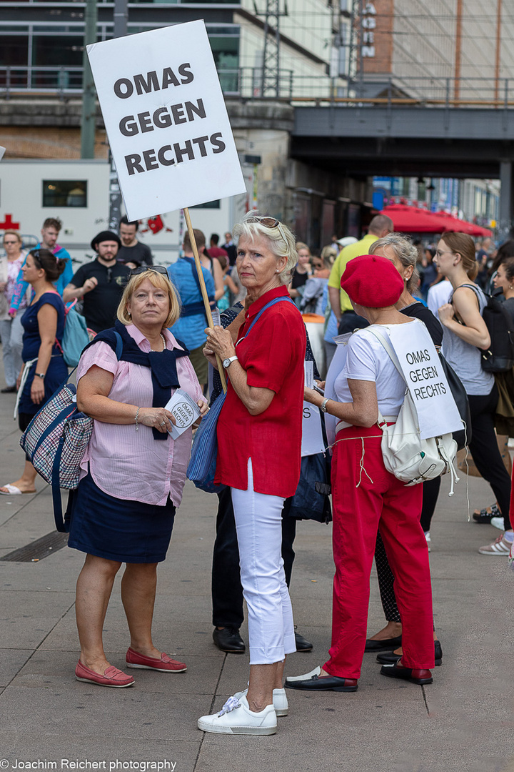
[[[281, 69], [274, 83], [266, 81], [263, 92], [262, 69], [240, 67], [219, 69], [226, 97], [244, 100], [276, 99], [291, 103], [332, 103], [341, 107], [385, 104], [389, 107], [514, 107], [514, 78], [391, 77], [373, 84], [354, 80], [310, 76]], [[65, 99], [82, 93], [80, 66], [2, 66], [0, 98], [40, 93]]]

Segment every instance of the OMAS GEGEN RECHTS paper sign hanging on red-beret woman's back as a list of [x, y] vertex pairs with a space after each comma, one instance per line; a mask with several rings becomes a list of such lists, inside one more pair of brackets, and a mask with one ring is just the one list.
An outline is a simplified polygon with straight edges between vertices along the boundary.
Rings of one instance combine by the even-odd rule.
[[405, 325], [391, 324], [388, 332], [418, 412], [421, 438], [458, 432], [462, 420], [432, 338], [422, 322], [412, 328], [406, 334]]

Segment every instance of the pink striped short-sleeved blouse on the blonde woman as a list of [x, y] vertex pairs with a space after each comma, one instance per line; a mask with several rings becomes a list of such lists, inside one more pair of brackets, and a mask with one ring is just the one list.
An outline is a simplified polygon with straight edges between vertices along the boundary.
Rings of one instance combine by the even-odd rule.
[[[126, 327], [129, 335], [143, 351], [150, 344], [134, 324]], [[163, 333], [166, 348], [182, 347], [177, 344], [170, 330]], [[80, 357], [77, 382], [96, 364], [102, 370], [113, 373], [114, 381], [109, 398], [152, 407], [153, 388], [149, 367], [116, 360], [116, 354], [106, 343], [98, 343]], [[180, 388], [194, 401], [203, 399], [197, 375], [189, 357], [176, 360], [176, 373]], [[173, 389], [172, 389], [173, 394]], [[170, 496], [175, 506], [182, 500], [186, 481], [186, 469], [190, 459], [192, 430], [189, 428], [176, 440], [168, 435], [166, 440], [155, 440], [149, 426], [139, 424], [119, 425], [95, 421], [91, 441], [82, 459], [80, 479], [89, 471], [96, 485], [109, 496], [117, 499], [133, 499], [147, 504], [164, 506]]]

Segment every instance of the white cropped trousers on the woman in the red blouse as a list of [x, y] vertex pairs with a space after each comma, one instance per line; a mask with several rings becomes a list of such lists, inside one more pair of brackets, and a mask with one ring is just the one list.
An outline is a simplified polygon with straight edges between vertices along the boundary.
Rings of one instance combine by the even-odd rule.
[[284, 499], [255, 493], [252, 459], [248, 459], [248, 489], [232, 488], [231, 493], [248, 608], [250, 665], [272, 665], [296, 652], [281, 554]]

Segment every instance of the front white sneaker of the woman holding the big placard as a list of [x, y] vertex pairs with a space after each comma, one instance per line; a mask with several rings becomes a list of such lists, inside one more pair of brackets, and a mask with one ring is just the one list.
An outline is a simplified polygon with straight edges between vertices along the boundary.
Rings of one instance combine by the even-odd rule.
[[254, 713], [244, 695], [229, 697], [220, 713], [198, 719], [198, 729], [215, 734], [275, 734], [277, 713], [273, 705]]

